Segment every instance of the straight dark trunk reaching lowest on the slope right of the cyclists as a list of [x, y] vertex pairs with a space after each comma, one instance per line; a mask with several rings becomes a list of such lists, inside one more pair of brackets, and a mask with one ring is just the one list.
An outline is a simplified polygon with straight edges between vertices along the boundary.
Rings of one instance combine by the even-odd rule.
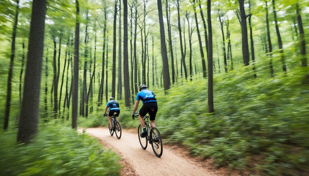
[[211, 2], [207, 0], [207, 23], [208, 23], [208, 112], [214, 112], [214, 90], [213, 90], [213, 53], [212, 53], [212, 27], [211, 27]]

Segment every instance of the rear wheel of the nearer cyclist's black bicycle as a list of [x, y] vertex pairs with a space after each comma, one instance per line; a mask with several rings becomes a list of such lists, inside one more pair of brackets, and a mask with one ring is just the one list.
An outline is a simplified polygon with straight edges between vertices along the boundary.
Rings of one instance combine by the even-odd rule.
[[163, 144], [162, 144], [162, 138], [159, 130], [157, 128], [152, 128], [150, 130], [150, 141], [152, 150], [155, 153], [155, 156], [161, 157], [163, 153]]

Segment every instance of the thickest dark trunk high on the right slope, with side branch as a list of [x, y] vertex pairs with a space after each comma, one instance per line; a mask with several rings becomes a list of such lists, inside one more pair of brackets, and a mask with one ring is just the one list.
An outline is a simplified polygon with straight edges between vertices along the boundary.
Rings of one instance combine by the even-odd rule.
[[248, 47], [248, 30], [247, 30], [247, 17], [244, 8], [244, 0], [239, 1], [240, 19], [241, 19], [241, 38], [242, 38], [242, 51], [243, 51], [243, 64], [249, 65], [249, 47]]

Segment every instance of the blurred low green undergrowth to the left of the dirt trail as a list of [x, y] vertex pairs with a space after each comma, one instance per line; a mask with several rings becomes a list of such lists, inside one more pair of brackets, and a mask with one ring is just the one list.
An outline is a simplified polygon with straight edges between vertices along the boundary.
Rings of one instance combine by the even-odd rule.
[[[60, 123], [59, 123], [60, 124]], [[120, 159], [98, 140], [48, 123], [30, 144], [16, 144], [16, 130], [0, 133], [1, 175], [119, 175]]]

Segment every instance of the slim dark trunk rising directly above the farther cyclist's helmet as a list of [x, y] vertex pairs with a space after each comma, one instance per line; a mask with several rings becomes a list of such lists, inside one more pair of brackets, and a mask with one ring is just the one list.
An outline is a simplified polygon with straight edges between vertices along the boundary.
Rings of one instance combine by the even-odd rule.
[[[113, 28], [113, 70], [112, 70], [112, 97], [116, 94], [116, 20], [117, 20], [117, 1], [114, 9], [114, 28]], [[107, 75], [106, 75], [107, 76]]]

